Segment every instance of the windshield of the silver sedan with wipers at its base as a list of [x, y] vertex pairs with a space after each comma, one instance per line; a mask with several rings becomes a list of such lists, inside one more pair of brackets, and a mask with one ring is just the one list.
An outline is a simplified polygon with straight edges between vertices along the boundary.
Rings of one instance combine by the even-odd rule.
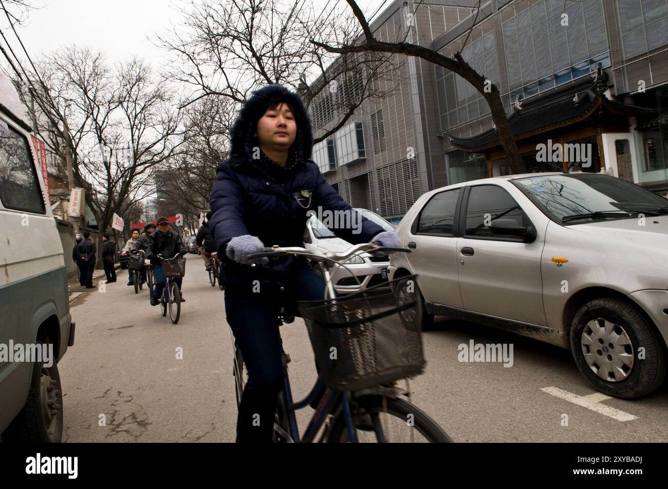
[[611, 175], [564, 173], [511, 181], [550, 219], [563, 224], [668, 213], [668, 200]]

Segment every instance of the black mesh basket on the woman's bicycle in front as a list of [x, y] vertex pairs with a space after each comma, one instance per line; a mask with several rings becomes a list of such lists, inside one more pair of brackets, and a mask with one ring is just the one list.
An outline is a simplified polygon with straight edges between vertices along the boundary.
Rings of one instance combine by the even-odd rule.
[[297, 305], [319, 375], [335, 390], [361, 390], [424, 372], [415, 276], [349, 296]]

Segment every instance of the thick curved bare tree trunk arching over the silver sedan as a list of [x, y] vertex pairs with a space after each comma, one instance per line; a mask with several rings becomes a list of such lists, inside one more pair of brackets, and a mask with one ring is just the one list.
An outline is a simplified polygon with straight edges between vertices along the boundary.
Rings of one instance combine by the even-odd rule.
[[[513, 173], [522, 173], [525, 171], [520, 151], [518, 150], [515, 139], [510, 132], [508, 116], [506, 115], [506, 111], [501, 101], [498, 87], [486, 79], [484, 74], [478, 73], [462, 57], [462, 50], [466, 46], [471, 29], [473, 29], [473, 26], [476, 24], [478, 19], [478, 15], [480, 14], [481, 0], [478, 0], [477, 6], [474, 7], [474, 9], [476, 9], [476, 13], [472, 27], [468, 33], [466, 33], [464, 41], [461, 43], [460, 49], [454, 53], [454, 57], [447, 57], [441, 53], [438, 53], [437, 51], [429, 49], [428, 47], [406, 42], [407, 35], [411, 29], [410, 23], [408, 25], [408, 29], [406, 29], [405, 37], [403, 39], [397, 39], [395, 42], [379, 41], [371, 32], [371, 27], [369, 27], [369, 23], [365, 18], [363, 11], [357, 5], [357, 2], [355, 0], [346, 1], [353, 12], [355, 19], [357, 19], [357, 23], [361, 28], [362, 35], [355, 39], [354, 42], [331, 43], [331, 41], [326, 39], [328, 34], [325, 32], [324, 39], [311, 37], [311, 43], [313, 43], [313, 45], [325, 49], [329, 53], [337, 53], [340, 55], [375, 52], [395, 53], [420, 57], [426, 61], [430, 61], [435, 65], [442, 66], [460, 75], [460, 77], [468, 81], [468, 83], [470, 83], [487, 101], [490, 107], [492, 121], [494, 122], [496, 130], [498, 131], [499, 141], [506, 151], [506, 155]], [[406, 9], [406, 18], [411, 19], [413, 13], [408, 11], [407, 5], [405, 5], [404, 8]]]

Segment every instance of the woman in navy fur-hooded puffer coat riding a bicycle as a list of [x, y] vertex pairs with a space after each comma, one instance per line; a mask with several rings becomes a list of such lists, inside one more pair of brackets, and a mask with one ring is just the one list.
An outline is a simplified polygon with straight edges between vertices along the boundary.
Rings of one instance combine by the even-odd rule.
[[222, 260], [226, 319], [248, 369], [236, 441], [271, 442], [283, 381], [279, 308], [323, 299], [325, 283], [303, 257], [248, 256], [273, 245], [303, 246], [309, 210], [347, 213], [346, 221], [359, 225], [332, 230], [351, 243], [396, 248], [399, 239], [357, 214], [311, 161], [311, 122], [297, 93], [281, 85], [255, 91], [231, 137], [211, 192], [209, 226]]

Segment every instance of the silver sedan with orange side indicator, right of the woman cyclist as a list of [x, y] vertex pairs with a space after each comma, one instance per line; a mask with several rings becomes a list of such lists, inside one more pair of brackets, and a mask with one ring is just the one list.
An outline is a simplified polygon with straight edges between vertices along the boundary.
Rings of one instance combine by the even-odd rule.
[[422, 195], [399, 223], [416, 321], [434, 315], [570, 348], [601, 392], [657, 390], [668, 354], [668, 201], [609, 175], [531, 173]]

